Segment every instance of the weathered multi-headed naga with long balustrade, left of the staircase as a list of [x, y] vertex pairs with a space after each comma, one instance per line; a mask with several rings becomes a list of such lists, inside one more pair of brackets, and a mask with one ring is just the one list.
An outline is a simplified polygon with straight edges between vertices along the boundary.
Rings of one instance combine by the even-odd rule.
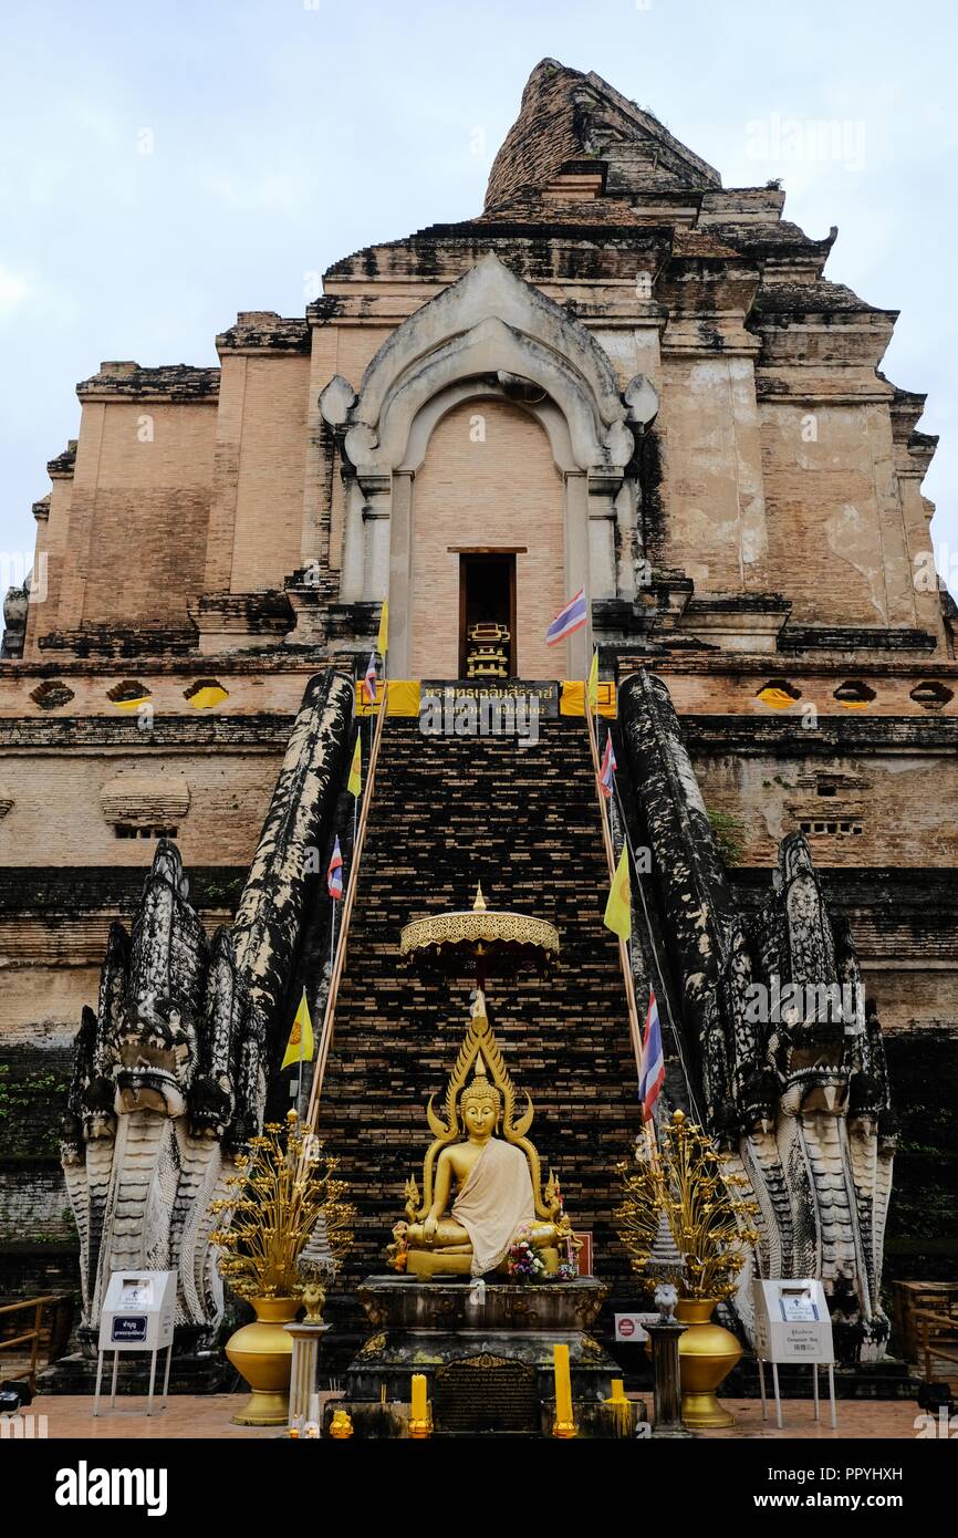
[[237, 1155], [258, 1132], [269, 1032], [303, 923], [311, 852], [335, 801], [349, 680], [311, 680], [232, 927], [208, 941], [180, 854], [157, 846], [132, 934], [109, 932], [97, 1010], [83, 1010], [62, 1160], [80, 1233], [81, 1341], [112, 1270], [175, 1270], [177, 1350], [223, 1312], [209, 1237]]

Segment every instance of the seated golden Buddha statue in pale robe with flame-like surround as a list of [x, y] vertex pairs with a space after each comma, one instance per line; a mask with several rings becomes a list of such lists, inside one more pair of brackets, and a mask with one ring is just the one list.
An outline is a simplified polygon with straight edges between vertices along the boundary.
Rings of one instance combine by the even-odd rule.
[[407, 1221], [395, 1226], [388, 1249], [394, 1269], [483, 1277], [507, 1270], [520, 1240], [546, 1272], [555, 1273], [563, 1261], [575, 1264], [578, 1244], [552, 1170], [540, 1190], [538, 1154], [526, 1137], [534, 1109], [526, 1100], [517, 1118], [515, 1089], [480, 990], [449, 1078], [446, 1117], [437, 1115], [432, 1098], [426, 1110], [435, 1141], [423, 1161], [421, 1201], [417, 1181], [406, 1183]]

